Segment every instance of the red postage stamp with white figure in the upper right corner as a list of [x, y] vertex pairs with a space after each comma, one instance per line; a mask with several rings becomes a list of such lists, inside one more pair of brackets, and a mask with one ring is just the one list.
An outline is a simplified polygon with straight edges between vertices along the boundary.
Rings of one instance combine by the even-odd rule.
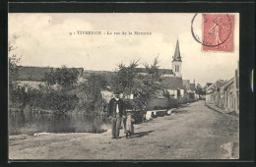
[[203, 51], [233, 52], [234, 16], [203, 14]]

